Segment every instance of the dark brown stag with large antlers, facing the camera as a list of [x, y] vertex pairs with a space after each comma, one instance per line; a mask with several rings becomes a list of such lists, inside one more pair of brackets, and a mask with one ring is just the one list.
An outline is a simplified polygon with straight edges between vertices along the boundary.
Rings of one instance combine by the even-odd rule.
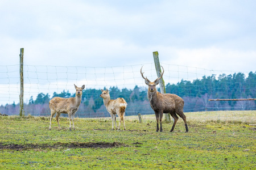
[[151, 108], [155, 112], [156, 131], [159, 131], [159, 119], [160, 119], [160, 131], [163, 131], [163, 128], [162, 128], [163, 113], [170, 113], [171, 116], [174, 118], [174, 125], [172, 125], [171, 131], [174, 131], [176, 122], [179, 119], [179, 117], [177, 117], [177, 114], [178, 114], [183, 119], [185, 123], [186, 132], [188, 132], [186, 116], [183, 113], [183, 107], [184, 107], [183, 99], [181, 99], [181, 97], [175, 94], [161, 94], [156, 90], [156, 85], [159, 84], [159, 80], [163, 77], [163, 73], [164, 73], [163, 67], [161, 66], [163, 69], [163, 73], [154, 82], [150, 82], [150, 80], [148, 80], [147, 77], [144, 78], [143, 76], [144, 73], [142, 73], [142, 67], [141, 67], [141, 76], [145, 80], [145, 83], [148, 85], [148, 91], [147, 91], [148, 100], [150, 101]]

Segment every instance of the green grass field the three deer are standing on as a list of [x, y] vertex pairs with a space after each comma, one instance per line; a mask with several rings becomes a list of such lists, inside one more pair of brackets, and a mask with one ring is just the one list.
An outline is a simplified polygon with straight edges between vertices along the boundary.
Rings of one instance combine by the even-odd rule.
[[[0, 169], [256, 169], [256, 111], [185, 113], [163, 123], [154, 115], [125, 117], [126, 131], [110, 118], [76, 118], [76, 130], [61, 117], [0, 117]], [[118, 121], [119, 123], [119, 121]]]

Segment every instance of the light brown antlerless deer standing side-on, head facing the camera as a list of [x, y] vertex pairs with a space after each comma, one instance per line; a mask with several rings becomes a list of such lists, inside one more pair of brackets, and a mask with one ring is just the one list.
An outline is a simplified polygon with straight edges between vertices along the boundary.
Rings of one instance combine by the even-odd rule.
[[71, 130], [71, 120], [73, 124], [73, 129], [75, 130], [74, 118], [82, 100], [82, 90], [84, 89], [84, 87], [85, 87], [84, 85], [82, 85], [82, 87], [77, 87], [75, 85], [76, 97], [70, 97], [70, 98], [54, 97], [49, 101], [49, 108], [51, 109], [49, 130], [51, 130], [52, 117], [54, 116], [55, 113], [57, 113], [56, 121], [58, 122], [59, 129], [60, 129], [60, 124], [59, 124], [60, 114], [66, 113], [68, 114], [68, 118], [69, 118], [69, 130]]

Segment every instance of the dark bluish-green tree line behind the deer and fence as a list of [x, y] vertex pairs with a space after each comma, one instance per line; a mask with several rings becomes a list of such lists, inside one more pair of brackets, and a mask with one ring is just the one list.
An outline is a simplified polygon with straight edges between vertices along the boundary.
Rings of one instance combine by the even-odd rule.
[[[110, 87], [111, 99], [123, 97], [128, 106], [126, 116], [142, 114], [153, 114], [147, 99], [147, 87], [135, 86], [133, 90], [118, 87]], [[158, 91], [160, 91], [158, 89]], [[220, 111], [220, 110], [254, 110], [256, 101], [209, 101], [209, 99], [238, 99], [255, 98], [256, 94], [256, 72], [250, 72], [245, 76], [243, 73], [233, 75], [203, 76], [201, 79], [191, 81], [181, 80], [177, 84], [166, 84], [166, 92], [179, 95], [183, 98], [184, 112], [196, 111]], [[100, 97], [101, 90], [87, 88], [82, 93], [82, 101], [77, 112], [79, 117], [108, 117], [109, 113]], [[60, 94], [40, 93], [34, 100], [31, 96], [29, 103], [24, 104], [25, 113], [34, 116], [49, 116], [48, 103], [53, 97], [75, 97], [69, 91], [63, 90]], [[1, 105], [1, 113], [18, 114], [19, 105]]]

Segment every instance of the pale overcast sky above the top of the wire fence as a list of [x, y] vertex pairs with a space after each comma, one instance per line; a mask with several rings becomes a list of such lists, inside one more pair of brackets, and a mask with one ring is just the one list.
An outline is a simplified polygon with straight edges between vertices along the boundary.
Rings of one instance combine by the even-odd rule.
[[0, 1], [0, 65], [256, 67], [256, 1]]

